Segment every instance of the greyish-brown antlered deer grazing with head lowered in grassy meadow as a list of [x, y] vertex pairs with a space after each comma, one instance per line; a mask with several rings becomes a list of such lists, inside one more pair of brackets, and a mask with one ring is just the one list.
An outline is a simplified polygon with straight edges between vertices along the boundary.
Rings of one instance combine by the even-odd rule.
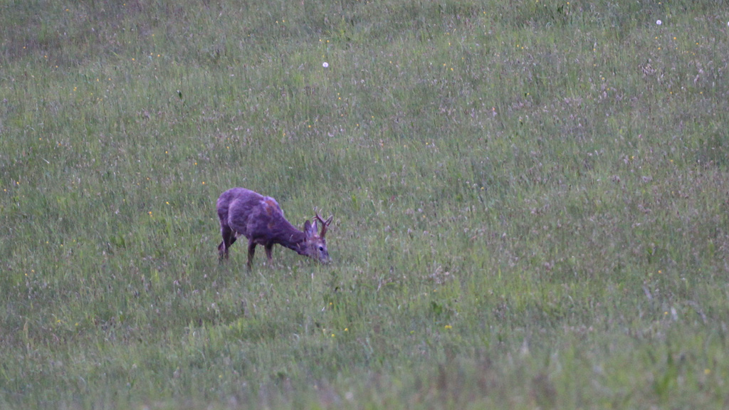
[[[268, 260], [271, 260], [273, 245], [280, 244], [321, 263], [330, 261], [324, 235], [333, 216], [323, 220], [315, 209], [314, 223], [307, 220], [302, 232], [286, 220], [276, 199], [246, 188], [233, 188], [222, 193], [217, 209], [223, 237], [218, 245], [220, 258], [227, 259], [230, 245], [238, 236], [245, 236], [248, 239], [248, 268], [252, 266], [256, 245], [263, 245]], [[320, 233], [317, 233], [317, 220], [321, 223]]]

